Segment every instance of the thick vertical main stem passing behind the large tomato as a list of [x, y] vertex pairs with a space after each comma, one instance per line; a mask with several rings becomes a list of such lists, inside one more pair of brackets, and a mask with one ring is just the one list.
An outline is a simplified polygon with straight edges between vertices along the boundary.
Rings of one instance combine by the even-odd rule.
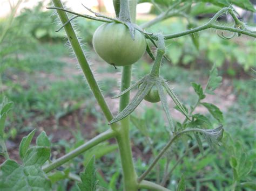
[[[122, 3], [121, 0], [120, 3]], [[130, 17], [131, 21], [134, 23], [136, 20], [136, 0], [129, 1], [129, 9], [130, 9]], [[120, 13], [121, 14], [121, 13]], [[131, 83], [131, 66], [123, 67], [122, 72], [122, 84], [121, 84], [121, 91], [130, 87]], [[130, 102], [130, 93], [126, 93], [122, 97], [120, 97], [120, 105], [119, 111], [122, 111], [126, 105]], [[130, 117], [127, 116], [122, 121], [120, 121], [121, 126], [117, 129], [117, 143], [119, 147], [119, 154], [121, 158], [121, 164], [123, 169], [123, 180], [124, 180], [124, 190], [126, 191], [135, 191], [138, 190], [138, 183], [137, 183], [137, 174], [134, 169], [133, 159], [132, 159], [132, 150], [131, 150], [131, 142], [130, 142]]]

